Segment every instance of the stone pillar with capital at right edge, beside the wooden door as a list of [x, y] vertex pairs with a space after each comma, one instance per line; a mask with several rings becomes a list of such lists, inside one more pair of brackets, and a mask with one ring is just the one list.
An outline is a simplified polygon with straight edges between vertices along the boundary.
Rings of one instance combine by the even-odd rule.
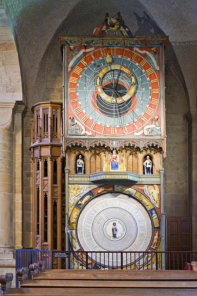
[[197, 109], [185, 115], [188, 122], [188, 207], [192, 216], [193, 251], [197, 250]]

